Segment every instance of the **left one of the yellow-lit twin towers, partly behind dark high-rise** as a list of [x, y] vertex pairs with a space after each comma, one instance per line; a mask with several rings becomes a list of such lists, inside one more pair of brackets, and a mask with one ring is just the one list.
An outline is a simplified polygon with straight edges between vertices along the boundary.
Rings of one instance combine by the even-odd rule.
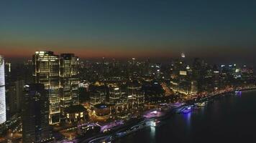
[[58, 124], [60, 122], [59, 56], [52, 51], [36, 51], [32, 61], [35, 83], [44, 84], [49, 94], [49, 124]]

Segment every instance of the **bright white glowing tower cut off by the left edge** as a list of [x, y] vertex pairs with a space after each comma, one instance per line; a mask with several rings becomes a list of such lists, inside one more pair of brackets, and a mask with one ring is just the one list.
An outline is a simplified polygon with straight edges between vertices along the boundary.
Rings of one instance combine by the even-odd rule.
[[0, 124], [6, 122], [4, 58], [0, 56]]

